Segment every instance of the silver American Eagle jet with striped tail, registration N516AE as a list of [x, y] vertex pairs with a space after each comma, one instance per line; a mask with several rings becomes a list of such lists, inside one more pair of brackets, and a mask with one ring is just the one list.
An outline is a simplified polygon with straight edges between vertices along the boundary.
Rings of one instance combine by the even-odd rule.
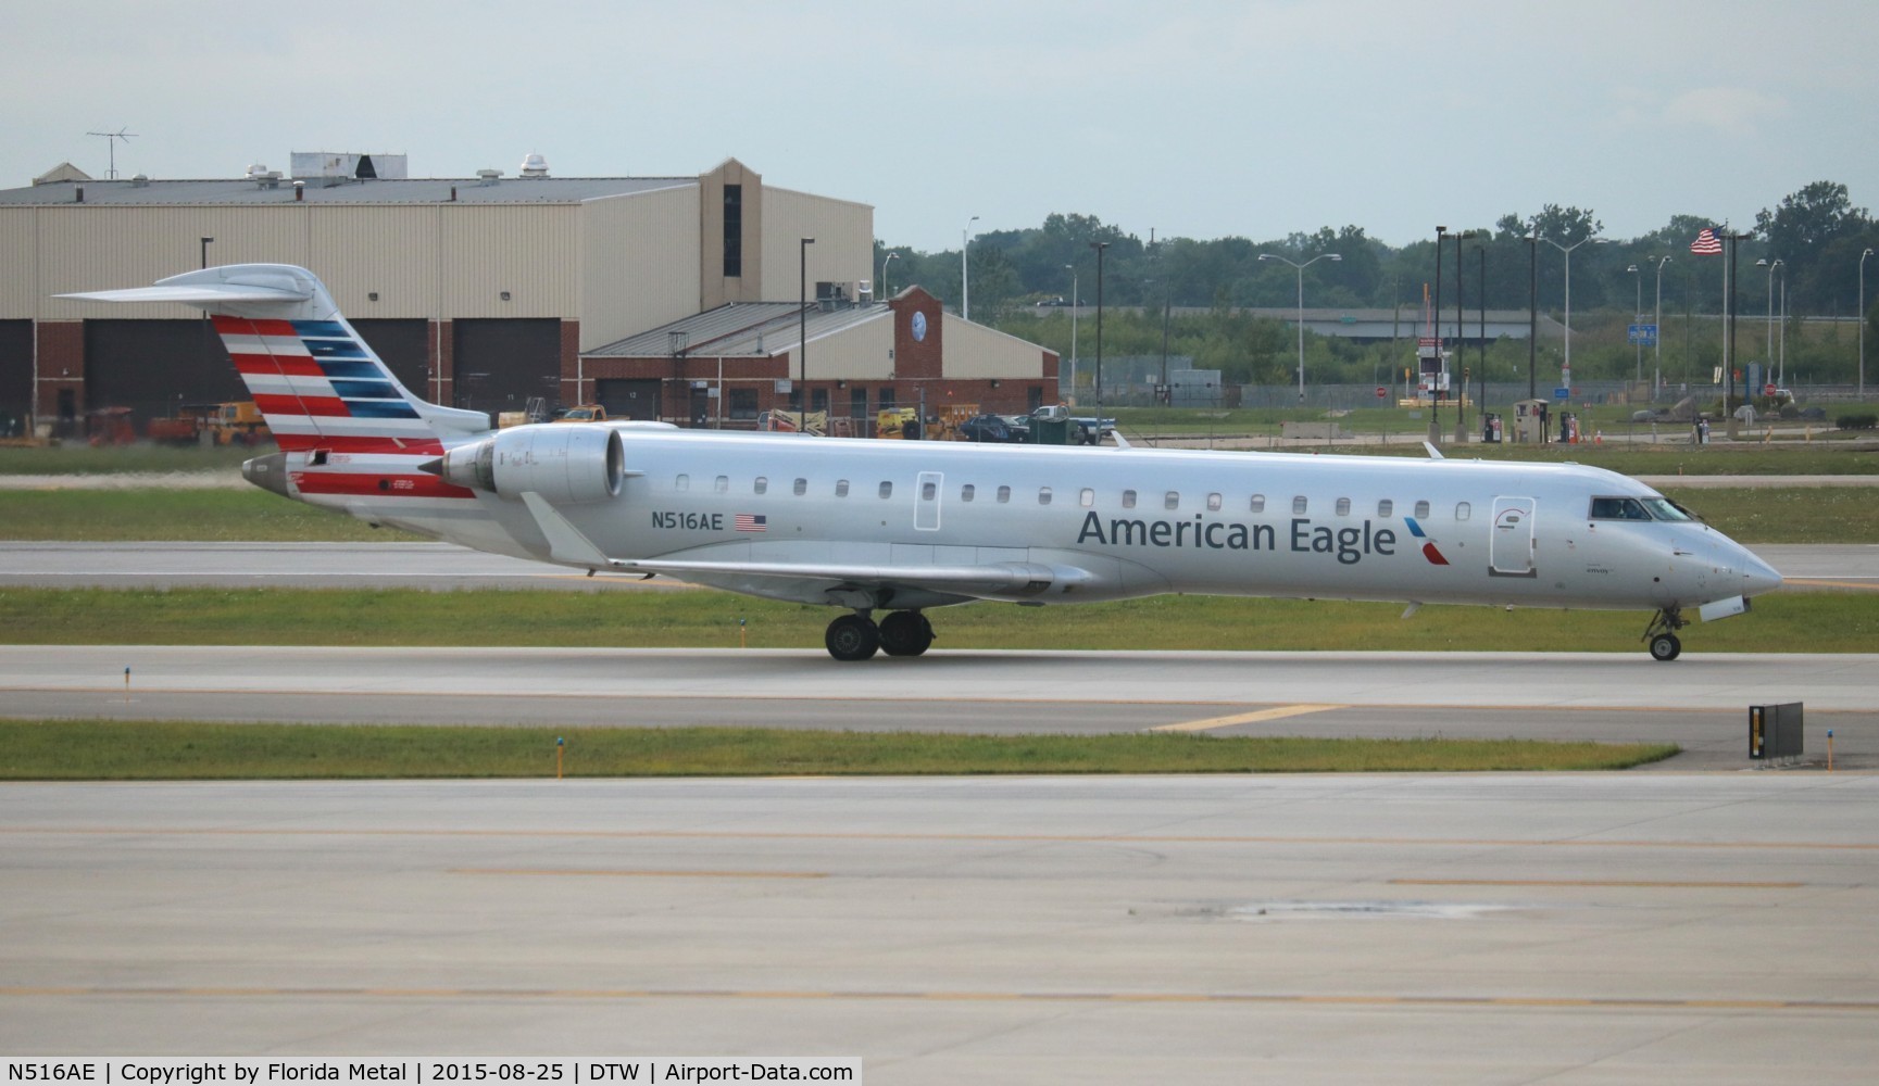
[[[1749, 609], [1766, 562], [1625, 475], [1582, 464], [857, 442], [543, 423], [412, 395], [312, 272], [225, 265], [60, 295], [209, 312], [280, 451], [286, 498], [477, 551], [838, 607], [842, 661], [921, 656], [926, 613], [1156, 594], [1652, 611]], [[877, 613], [885, 613], [876, 620]]]

